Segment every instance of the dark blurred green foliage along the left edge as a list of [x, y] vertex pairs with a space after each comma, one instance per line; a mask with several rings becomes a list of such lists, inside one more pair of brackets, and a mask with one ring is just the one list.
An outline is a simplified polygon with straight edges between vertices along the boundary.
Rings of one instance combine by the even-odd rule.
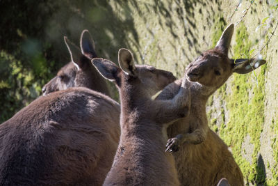
[[57, 69], [43, 37], [53, 12], [46, 2], [0, 1], [0, 123], [37, 98]]

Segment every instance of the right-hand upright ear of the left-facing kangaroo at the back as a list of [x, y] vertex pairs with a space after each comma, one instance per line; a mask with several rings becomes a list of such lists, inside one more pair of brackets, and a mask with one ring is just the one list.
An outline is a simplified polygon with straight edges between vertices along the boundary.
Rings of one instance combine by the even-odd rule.
[[88, 30], [83, 30], [80, 37], [80, 48], [83, 55], [89, 59], [97, 57], [95, 52], [95, 42], [92, 40], [92, 36]]

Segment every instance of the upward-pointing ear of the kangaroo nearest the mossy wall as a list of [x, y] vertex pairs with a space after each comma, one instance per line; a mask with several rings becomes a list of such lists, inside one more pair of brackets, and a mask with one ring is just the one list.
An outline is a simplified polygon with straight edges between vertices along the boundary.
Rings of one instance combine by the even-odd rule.
[[220, 40], [218, 40], [215, 48], [222, 50], [224, 54], [228, 54], [229, 47], [231, 44], [231, 37], [234, 33], [234, 24], [230, 24], [227, 29], [225, 29], [222, 33]]

